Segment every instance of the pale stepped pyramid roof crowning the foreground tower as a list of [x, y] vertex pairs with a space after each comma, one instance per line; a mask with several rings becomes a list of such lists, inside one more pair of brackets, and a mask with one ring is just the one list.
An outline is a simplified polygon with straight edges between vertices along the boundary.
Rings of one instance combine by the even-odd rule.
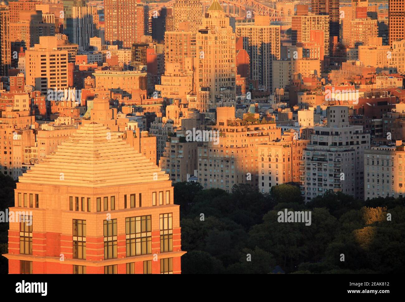
[[168, 174], [117, 134], [92, 122], [81, 126], [19, 182], [96, 188], [168, 179]]

